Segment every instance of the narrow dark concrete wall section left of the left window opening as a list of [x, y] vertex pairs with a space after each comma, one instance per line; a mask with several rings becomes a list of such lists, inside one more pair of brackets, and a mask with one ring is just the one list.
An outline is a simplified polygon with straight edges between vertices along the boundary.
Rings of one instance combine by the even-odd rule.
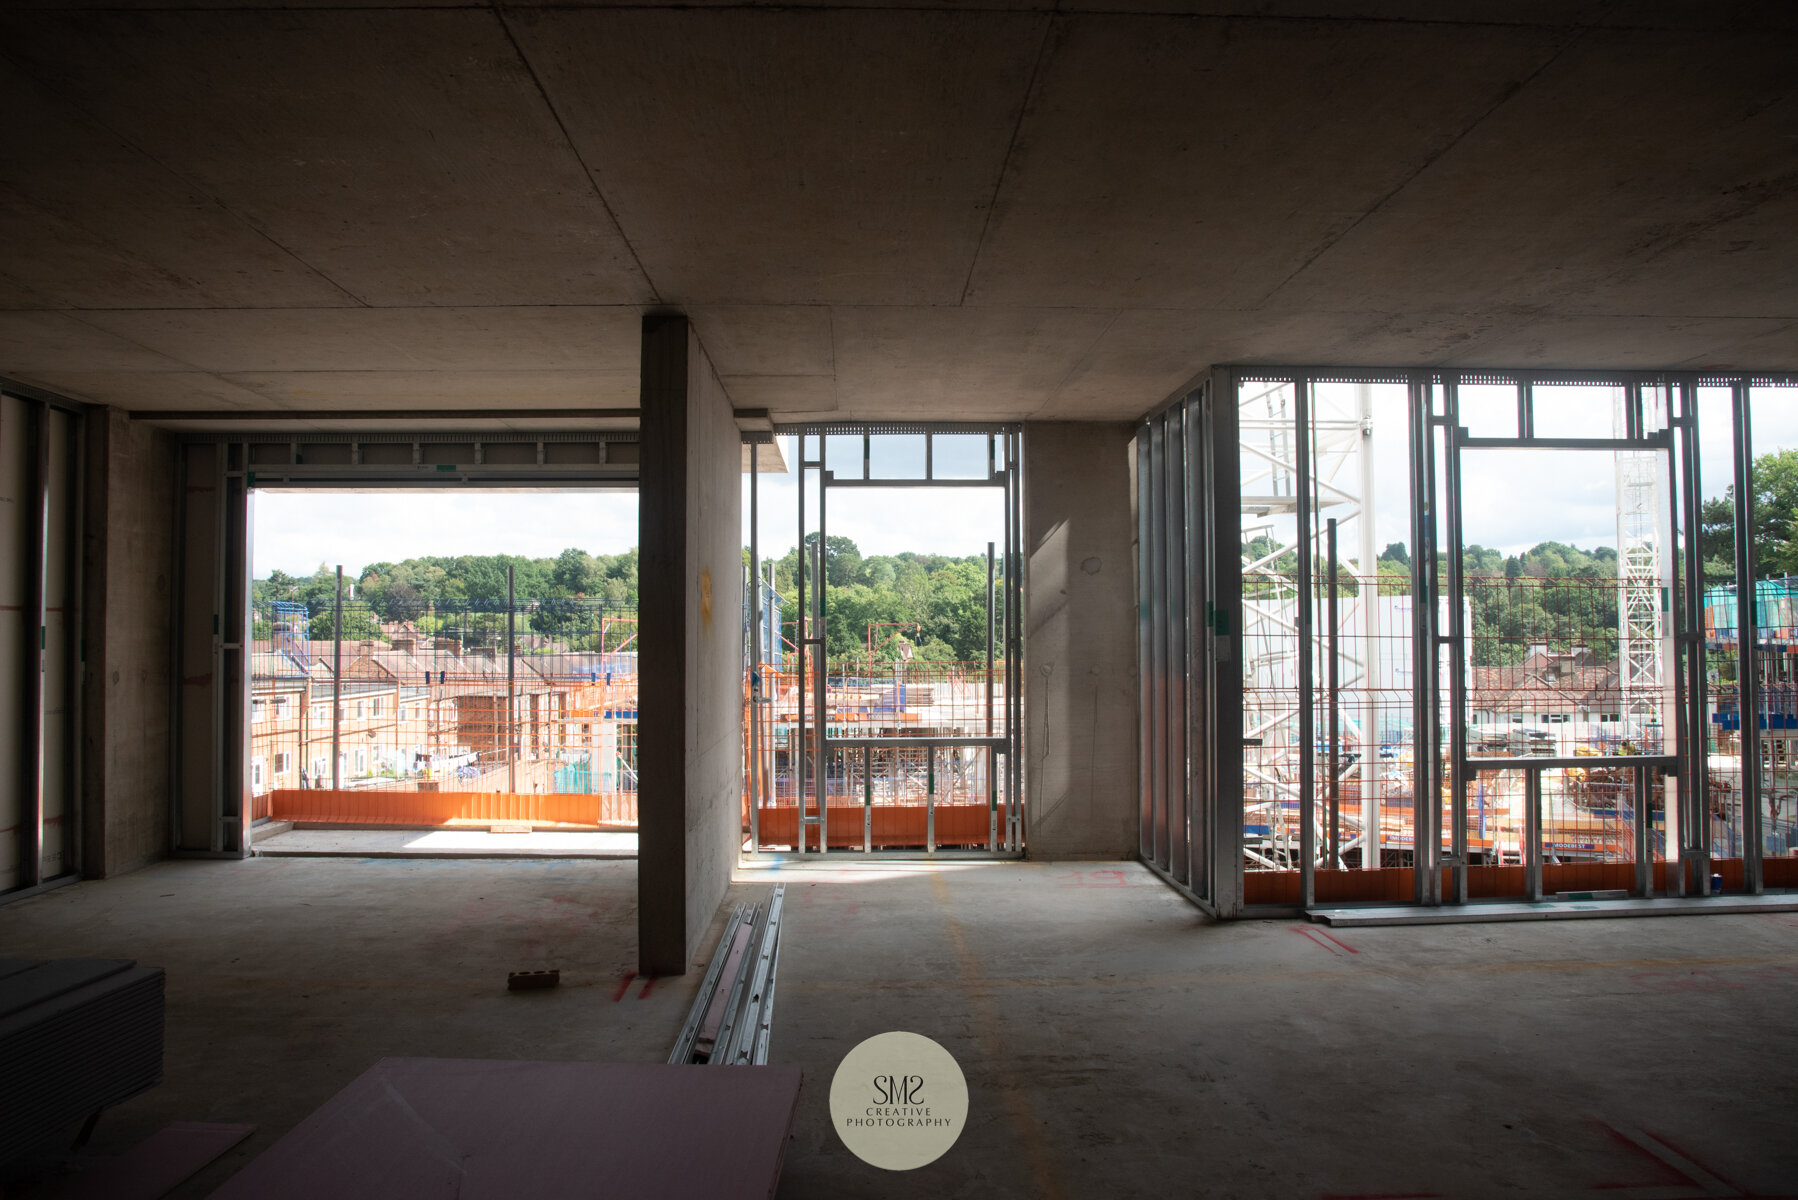
[[81, 871], [104, 878], [169, 847], [174, 441], [117, 408], [88, 414], [83, 554]]

